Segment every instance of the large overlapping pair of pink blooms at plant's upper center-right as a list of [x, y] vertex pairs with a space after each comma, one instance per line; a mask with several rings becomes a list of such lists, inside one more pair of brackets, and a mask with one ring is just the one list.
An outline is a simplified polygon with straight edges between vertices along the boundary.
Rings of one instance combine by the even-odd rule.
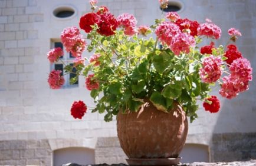
[[162, 22], [156, 27], [156, 35], [162, 44], [168, 47], [179, 55], [180, 52], [189, 52], [189, 47], [195, 46], [195, 38], [180, 31], [179, 26], [172, 22]]

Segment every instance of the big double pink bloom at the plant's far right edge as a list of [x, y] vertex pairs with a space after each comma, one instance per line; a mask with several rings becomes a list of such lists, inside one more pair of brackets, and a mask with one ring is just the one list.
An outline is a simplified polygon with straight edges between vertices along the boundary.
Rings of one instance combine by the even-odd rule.
[[236, 97], [239, 92], [249, 88], [248, 82], [252, 80], [252, 68], [245, 58], [235, 59], [229, 67], [231, 75], [222, 78], [223, 84], [219, 90], [222, 97], [228, 99]]

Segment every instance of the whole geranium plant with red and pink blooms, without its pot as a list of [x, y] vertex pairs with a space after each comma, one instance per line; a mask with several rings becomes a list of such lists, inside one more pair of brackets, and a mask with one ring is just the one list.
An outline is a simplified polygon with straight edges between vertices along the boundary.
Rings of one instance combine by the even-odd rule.
[[[159, 2], [166, 7], [166, 1]], [[219, 94], [228, 99], [248, 89], [252, 68], [235, 46], [241, 36], [237, 29], [228, 31], [232, 44], [216, 46], [221, 28], [209, 19], [199, 24], [168, 12], [152, 26], [137, 26], [131, 14], [116, 18], [106, 6], [97, 6], [97, 1], [90, 4], [92, 12], [80, 18], [81, 29], [65, 28], [61, 42], [76, 57], [73, 66], [65, 65], [66, 73], [76, 68], [71, 83], [79, 75], [85, 77], [86, 88], [96, 102], [92, 111], [105, 112], [105, 121], [119, 111], [136, 112], [149, 99], [165, 112], [179, 102], [192, 122], [198, 117], [198, 100], [204, 101], [206, 111], [219, 111], [219, 99], [209, 95], [215, 84], [220, 86]], [[86, 37], [80, 31], [86, 32]], [[199, 47], [204, 39], [209, 44]], [[82, 57], [86, 48], [94, 51], [90, 58]], [[61, 48], [54, 48], [48, 59], [56, 62], [62, 55]], [[60, 88], [64, 84], [61, 71], [52, 71], [48, 82], [52, 89]], [[81, 119], [86, 111], [86, 104], [76, 101], [71, 115]]]

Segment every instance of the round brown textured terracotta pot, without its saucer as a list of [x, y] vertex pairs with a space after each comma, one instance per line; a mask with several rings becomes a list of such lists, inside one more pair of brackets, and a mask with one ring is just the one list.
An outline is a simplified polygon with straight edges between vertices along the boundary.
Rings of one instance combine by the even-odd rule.
[[117, 114], [117, 134], [129, 158], [176, 158], [186, 141], [188, 120], [179, 104], [168, 114], [147, 101], [138, 112]]

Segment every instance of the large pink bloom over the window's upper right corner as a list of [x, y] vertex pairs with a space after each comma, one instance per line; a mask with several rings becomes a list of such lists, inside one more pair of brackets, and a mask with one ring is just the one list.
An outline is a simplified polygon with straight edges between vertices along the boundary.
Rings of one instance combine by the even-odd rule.
[[76, 26], [65, 28], [63, 32], [61, 32], [61, 42], [67, 52], [71, 52], [73, 57], [81, 56], [86, 48], [86, 40], [83, 39], [83, 36]]

